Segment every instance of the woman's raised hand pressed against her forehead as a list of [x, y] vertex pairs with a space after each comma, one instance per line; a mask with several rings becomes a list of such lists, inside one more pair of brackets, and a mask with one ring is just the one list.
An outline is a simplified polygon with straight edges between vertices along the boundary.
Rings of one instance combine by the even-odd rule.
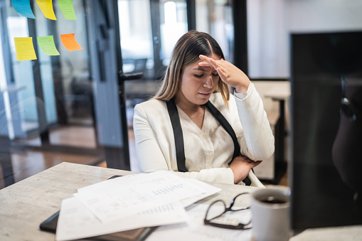
[[235, 87], [236, 92], [243, 93], [247, 91], [247, 87], [250, 85], [249, 77], [238, 67], [223, 59], [214, 60], [205, 55], [200, 55], [200, 58], [203, 61], [198, 63], [199, 66], [213, 66], [218, 71], [220, 79], [227, 85]]

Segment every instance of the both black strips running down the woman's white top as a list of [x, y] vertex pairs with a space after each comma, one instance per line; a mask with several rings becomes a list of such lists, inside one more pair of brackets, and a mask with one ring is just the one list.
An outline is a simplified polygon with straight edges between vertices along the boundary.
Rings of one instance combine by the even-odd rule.
[[[176, 146], [176, 161], [177, 161], [177, 168], [181, 172], [186, 172], [186, 158], [185, 158], [185, 147], [183, 145], [183, 134], [182, 134], [182, 128], [181, 128], [181, 122], [179, 117], [179, 112], [177, 111], [177, 107], [175, 104], [174, 99], [171, 99], [169, 101], [166, 101], [167, 109], [169, 111], [169, 116], [171, 119], [172, 129], [174, 130], [174, 139], [175, 139], [175, 146]], [[213, 117], [218, 120], [218, 122], [221, 124], [221, 126], [225, 129], [226, 132], [231, 136], [231, 139], [233, 139], [234, 143], [234, 154], [233, 159], [235, 159], [236, 156], [240, 156], [240, 146], [238, 143], [238, 138], [236, 137], [236, 134], [233, 130], [233, 127], [230, 126], [229, 122], [225, 119], [223, 114], [219, 112], [218, 109], [210, 102], [208, 101], [206, 103], [206, 107], [208, 110], [213, 114]], [[231, 161], [228, 163], [230, 165]], [[251, 181], [248, 177], [246, 177], [243, 182], [245, 185], [250, 186]]]

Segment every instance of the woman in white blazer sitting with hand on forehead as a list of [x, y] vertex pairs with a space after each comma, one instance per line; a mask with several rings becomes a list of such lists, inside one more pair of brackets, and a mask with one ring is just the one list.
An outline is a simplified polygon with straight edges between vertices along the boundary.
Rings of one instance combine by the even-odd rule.
[[179, 171], [218, 183], [243, 183], [274, 152], [254, 85], [210, 35], [197, 31], [176, 43], [156, 96], [134, 107], [134, 136], [142, 172]]

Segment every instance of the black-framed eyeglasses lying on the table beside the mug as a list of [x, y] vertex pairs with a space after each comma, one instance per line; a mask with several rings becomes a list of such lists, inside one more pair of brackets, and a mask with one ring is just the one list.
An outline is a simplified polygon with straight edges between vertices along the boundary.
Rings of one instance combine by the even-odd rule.
[[[233, 230], [247, 230], [250, 229], [248, 225], [251, 223], [251, 218], [247, 223], [239, 223], [238, 220], [225, 220], [222, 218], [223, 214], [226, 212], [238, 212], [242, 210], [248, 210], [250, 207], [247, 208], [235, 208], [233, 207], [235, 204], [235, 200], [239, 200], [241, 196], [249, 194], [249, 193], [240, 193], [230, 203], [230, 206], [227, 208], [226, 204], [223, 200], [215, 200], [215, 202], [211, 203], [206, 211], [205, 218], [203, 219], [203, 223], [206, 225], [211, 225], [214, 227], [224, 227]], [[223, 206], [220, 205], [223, 204]], [[223, 208], [222, 208], [223, 207]]]

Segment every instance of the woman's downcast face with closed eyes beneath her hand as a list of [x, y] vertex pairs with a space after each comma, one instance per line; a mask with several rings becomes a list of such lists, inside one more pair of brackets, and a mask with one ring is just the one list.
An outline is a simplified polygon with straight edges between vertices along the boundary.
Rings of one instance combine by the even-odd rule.
[[[214, 60], [220, 58], [213, 53]], [[181, 83], [176, 98], [186, 105], [204, 105], [218, 86], [219, 75], [212, 67], [201, 67], [198, 63], [188, 65], [181, 74]]]

